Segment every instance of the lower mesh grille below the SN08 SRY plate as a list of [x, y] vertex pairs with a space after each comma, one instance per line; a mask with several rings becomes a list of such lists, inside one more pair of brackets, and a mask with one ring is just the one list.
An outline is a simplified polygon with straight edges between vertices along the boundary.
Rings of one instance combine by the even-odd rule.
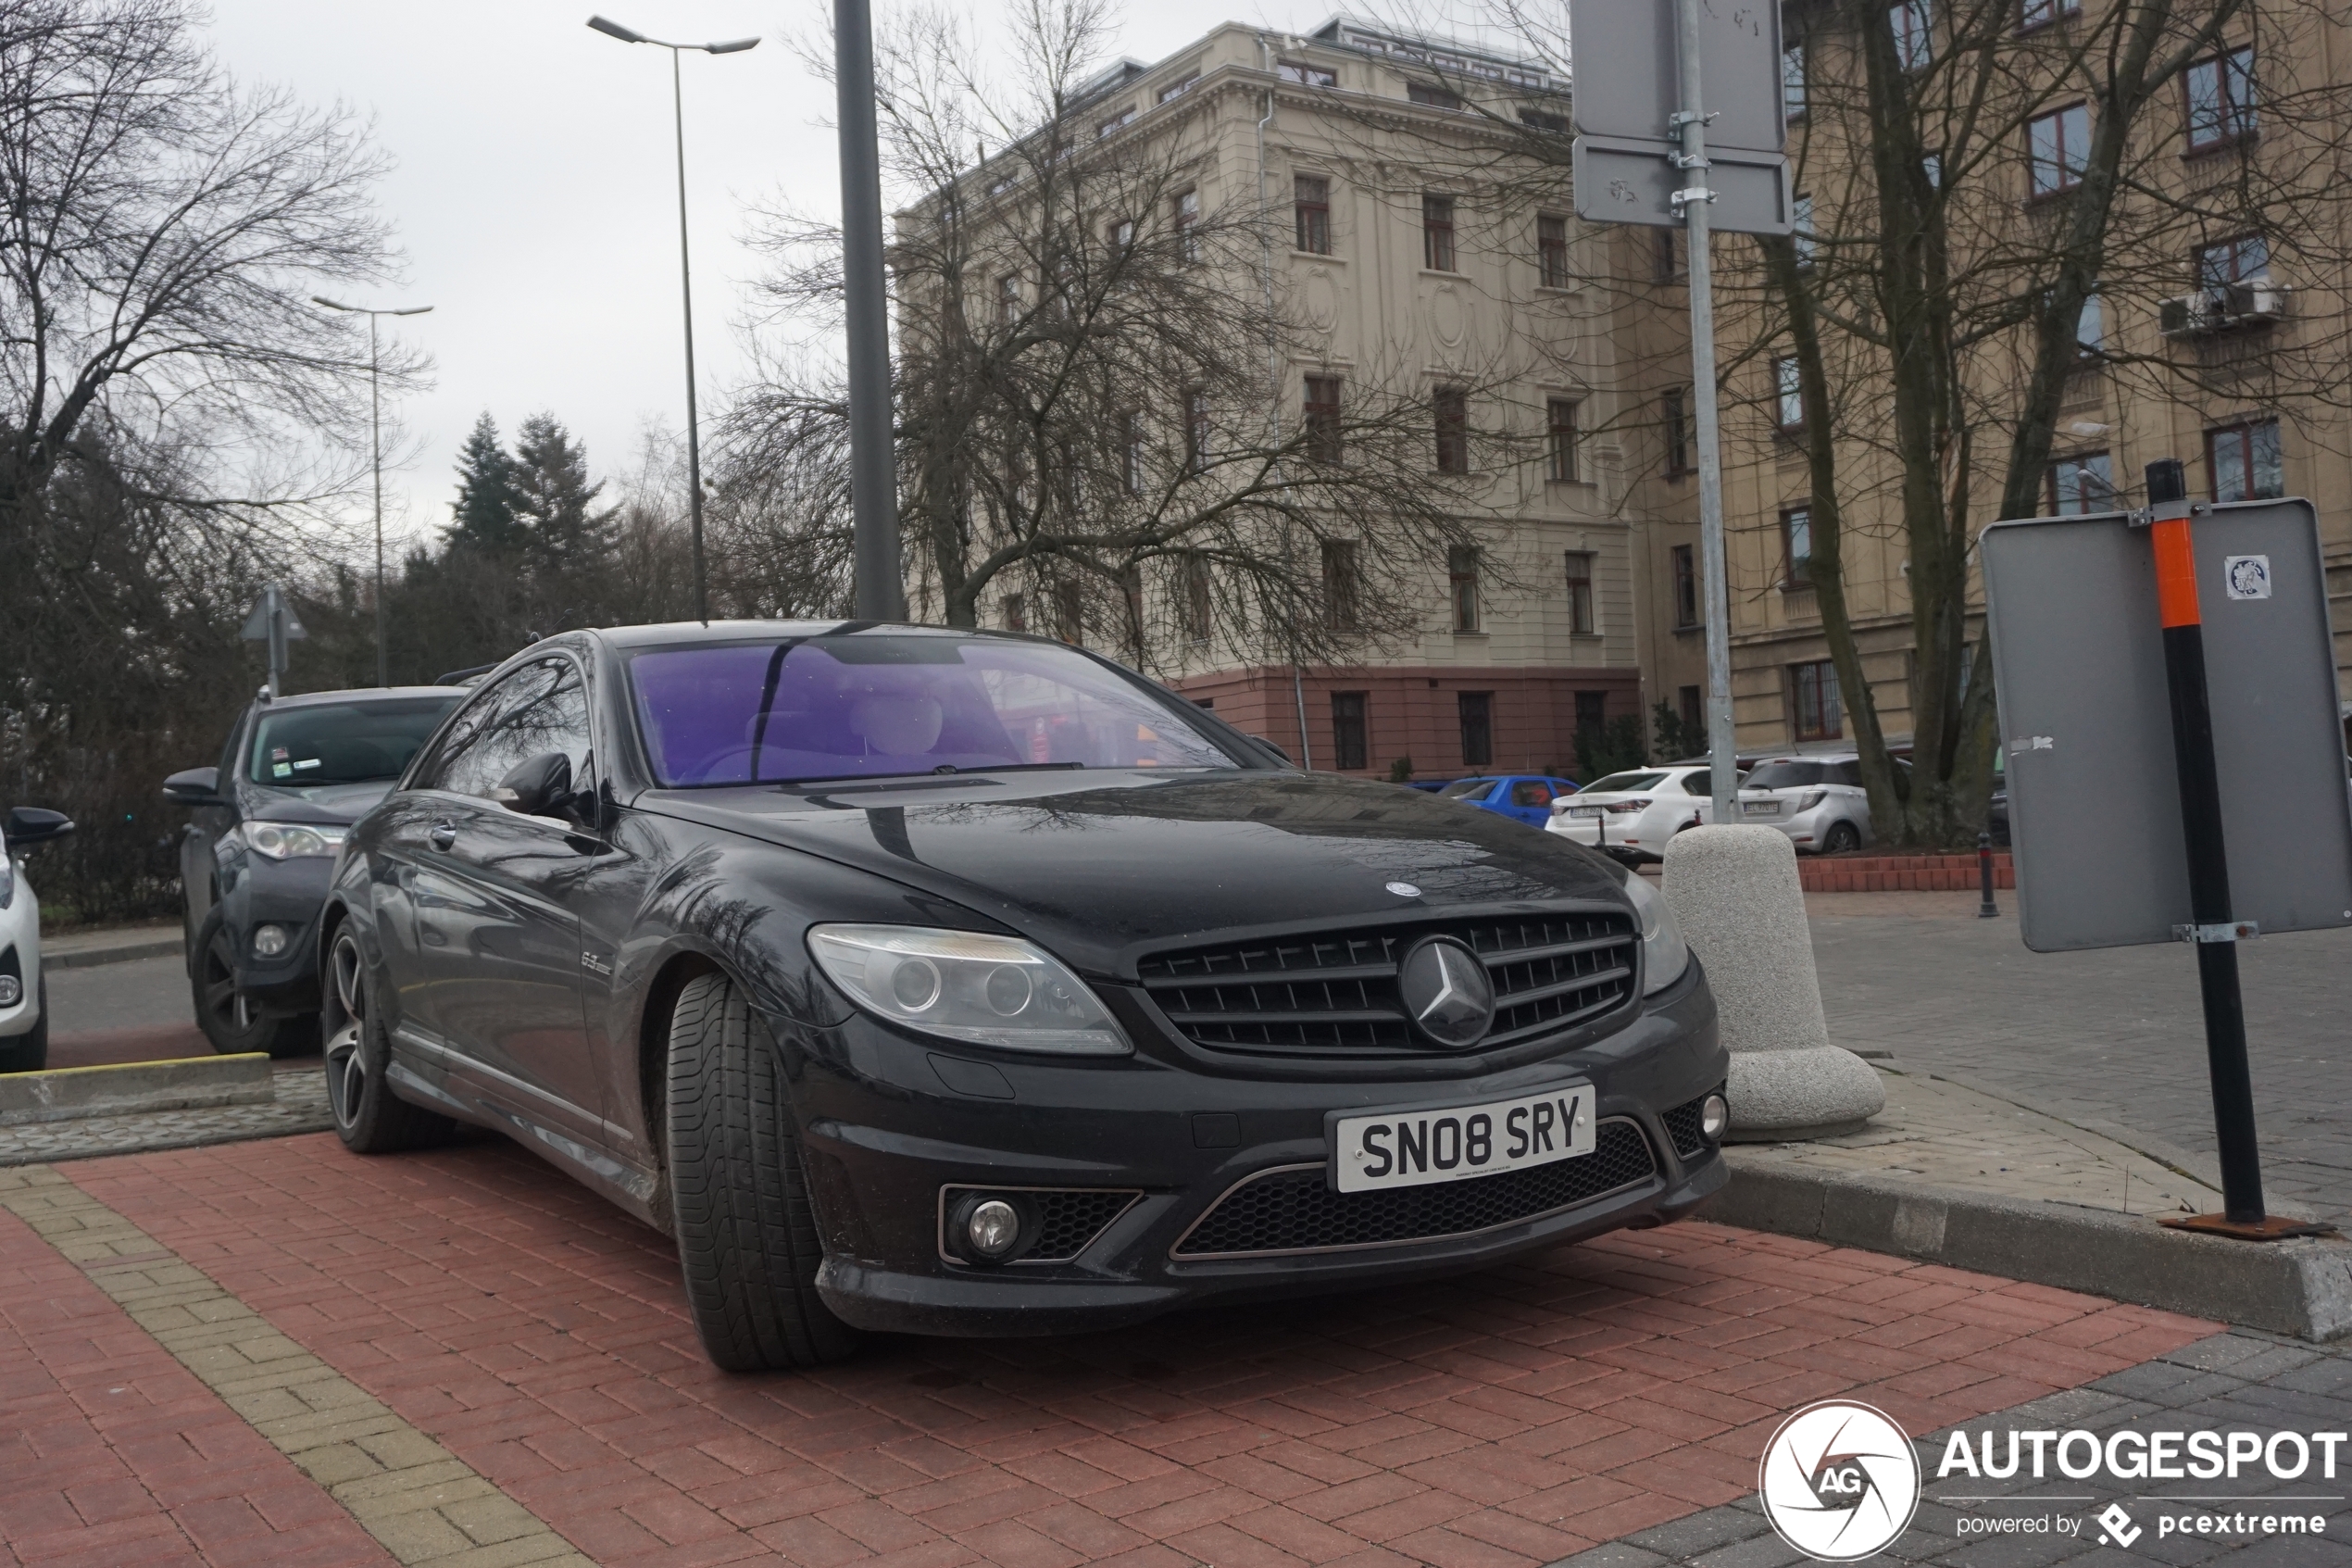
[[1602, 1121], [1592, 1145], [1590, 1154], [1548, 1166], [1381, 1192], [1334, 1192], [1322, 1166], [1268, 1171], [1218, 1199], [1176, 1241], [1174, 1255], [1254, 1258], [1442, 1241], [1571, 1208], [1658, 1173], [1649, 1138], [1623, 1117]]

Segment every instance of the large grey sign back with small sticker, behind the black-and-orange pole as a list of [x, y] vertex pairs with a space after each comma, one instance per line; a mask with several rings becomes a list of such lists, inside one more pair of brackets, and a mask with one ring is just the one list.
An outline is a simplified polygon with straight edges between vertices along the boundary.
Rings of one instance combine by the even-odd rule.
[[[2352, 785], [2319, 517], [2192, 517], [2230, 903], [2260, 933], [2352, 926]], [[2154, 550], [2124, 512], [1994, 522], [1980, 541], [2018, 910], [2034, 952], [2192, 926]]]

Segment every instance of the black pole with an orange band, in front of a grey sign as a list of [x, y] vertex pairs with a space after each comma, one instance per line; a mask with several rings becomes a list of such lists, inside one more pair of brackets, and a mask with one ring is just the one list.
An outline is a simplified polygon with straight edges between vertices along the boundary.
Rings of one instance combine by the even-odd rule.
[[2223, 842], [2220, 773], [2213, 764], [2204, 614], [2197, 604], [2187, 482], [2178, 458], [2147, 465], [2147, 510], [2157, 552], [2157, 614], [2164, 623], [2164, 684], [2173, 705], [2173, 766], [2180, 773], [2180, 832], [2190, 856], [2194, 926], [2187, 936], [2197, 947], [2197, 990], [2206, 1016], [2206, 1072], [2213, 1079], [2223, 1215], [2230, 1225], [2260, 1227], [2263, 1157], [2253, 1131], [2246, 1009], [2237, 990], [2239, 931], [2230, 914], [2230, 856]]

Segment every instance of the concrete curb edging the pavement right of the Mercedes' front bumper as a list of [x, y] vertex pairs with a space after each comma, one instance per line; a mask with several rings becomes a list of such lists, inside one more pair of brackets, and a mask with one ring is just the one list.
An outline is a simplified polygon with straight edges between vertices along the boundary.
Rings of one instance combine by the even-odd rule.
[[1858, 1246], [2303, 1340], [2352, 1335], [2352, 1244], [2230, 1241], [2143, 1215], [1740, 1161], [1719, 1225]]

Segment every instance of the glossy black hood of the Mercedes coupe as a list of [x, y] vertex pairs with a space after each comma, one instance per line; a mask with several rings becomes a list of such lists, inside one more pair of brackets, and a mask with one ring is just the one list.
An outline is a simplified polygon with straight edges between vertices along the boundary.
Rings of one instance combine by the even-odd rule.
[[652, 790], [633, 804], [950, 898], [1094, 973], [1235, 926], [1628, 905], [1625, 872], [1576, 844], [1421, 790], [1312, 773], [976, 773], [833, 792]]

